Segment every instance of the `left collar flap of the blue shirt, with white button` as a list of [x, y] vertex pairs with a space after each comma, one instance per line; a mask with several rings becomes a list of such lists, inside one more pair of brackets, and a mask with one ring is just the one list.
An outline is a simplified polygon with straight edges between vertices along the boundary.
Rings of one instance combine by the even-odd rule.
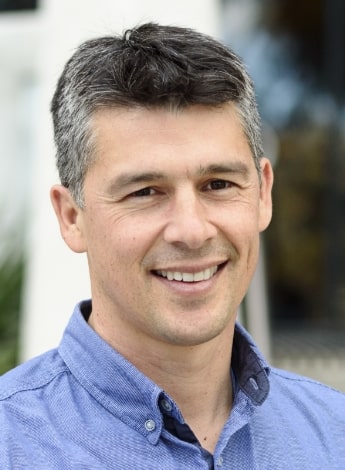
[[155, 444], [163, 426], [159, 409], [162, 390], [88, 325], [90, 312], [91, 301], [76, 306], [59, 354], [98, 403]]

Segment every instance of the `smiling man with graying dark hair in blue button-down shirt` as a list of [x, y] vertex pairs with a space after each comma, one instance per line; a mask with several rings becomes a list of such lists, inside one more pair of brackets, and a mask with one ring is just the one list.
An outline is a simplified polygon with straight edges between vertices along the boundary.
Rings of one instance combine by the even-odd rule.
[[1, 379], [0, 467], [345, 468], [344, 396], [236, 324], [273, 181], [239, 58], [145, 24], [83, 44], [52, 113], [51, 199], [92, 301]]

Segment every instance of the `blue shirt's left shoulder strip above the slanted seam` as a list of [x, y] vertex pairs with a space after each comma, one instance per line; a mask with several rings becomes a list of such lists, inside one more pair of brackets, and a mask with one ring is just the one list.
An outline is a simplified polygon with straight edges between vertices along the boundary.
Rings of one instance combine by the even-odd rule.
[[42, 390], [67, 370], [56, 349], [10, 370], [0, 377], [0, 409], [17, 394]]

